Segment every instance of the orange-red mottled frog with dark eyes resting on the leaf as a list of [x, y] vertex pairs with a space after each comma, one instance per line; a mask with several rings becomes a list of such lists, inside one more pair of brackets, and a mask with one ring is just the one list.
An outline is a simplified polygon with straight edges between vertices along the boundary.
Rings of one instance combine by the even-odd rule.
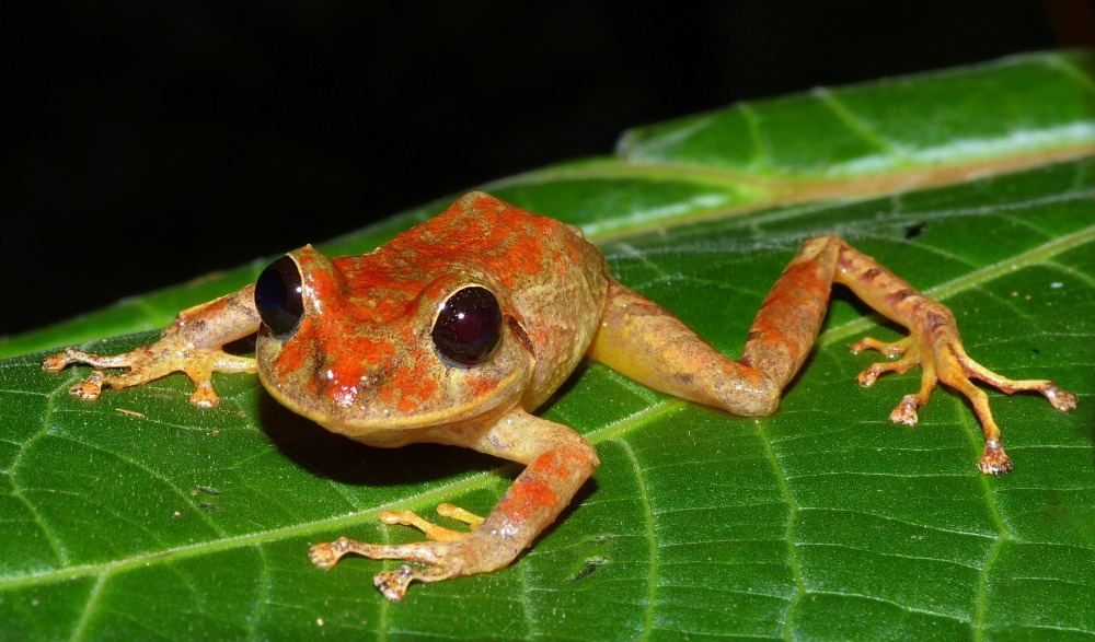
[[[384, 524], [425, 540], [369, 544], [339, 537], [309, 549], [331, 569], [347, 555], [402, 562], [373, 583], [400, 600], [414, 582], [488, 573], [515, 561], [570, 504], [599, 465], [568, 425], [535, 415], [586, 360], [661, 393], [744, 417], [776, 411], [810, 353], [834, 284], [846, 287], [909, 334], [865, 338], [853, 353], [889, 358], [856, 377], [871, 386], [919, 366], [918, 392], [891, 412], [913, 425], [938, 383], [966, 397], [984, 433], [981, 472], [1012, 470], [987, 394], [1033, 392], [1070, 411], [1073, 393], [1052, 381], [1014, 381], [969, 358], [955, 315], [837, 235], [805, 241], [763, 300], [741, 355], [730, 359], [677, 316], [612, 277], [601, 252], [574, 225], [485, 192], [360, 256], [331, 258], [306, 245], [274, 260], [255, 283], [184, 310], [159, 340], [117, 355], [76, 348], [43, 361], [94, 370], [70, 393], [85, 400], [185, 373], [191, 402], [215, 407], [212, 373], [258, 375], [278, 402], [328, 431], [377, 447], [434, 443], [523, 466], [483, 517], [449, 503], [448, 528], [412, 511]], [[254, 357], [227, 343], [256, 335]], [[120, 369], [108, 374], [106, 370]]]

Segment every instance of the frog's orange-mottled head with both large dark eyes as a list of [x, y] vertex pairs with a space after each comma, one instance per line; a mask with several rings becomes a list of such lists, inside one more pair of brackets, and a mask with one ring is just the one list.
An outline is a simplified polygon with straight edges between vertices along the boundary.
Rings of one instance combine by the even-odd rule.
[[255, 285], [263, 385], [362, 441], [511, 408], [534, 366], [520, 319], [482, 275], [442, 272], [311, 246], [277, 259]]

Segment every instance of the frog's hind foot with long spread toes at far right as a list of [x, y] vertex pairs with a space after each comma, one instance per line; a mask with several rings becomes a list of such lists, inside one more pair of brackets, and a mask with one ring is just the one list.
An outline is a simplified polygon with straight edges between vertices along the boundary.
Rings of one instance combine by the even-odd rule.
[[922, 367], [920, 390], [914, 395], [906, 395], [894, 412], [890, 421], [915, 425], [917, 409], [931, 400], [932, 390], [937, 383], [958, 390], [973, 406], [984, 431], [984, 453], [977, 467], [988, 475], [1000, 475], [1012, 469], [1012, 462], [1004, 453], [1000, 441], [1000, 427], [992, 418], [989, 409], [989, 397], [973, 385], [971, 378], [980, 380], [999, 390], [1013, 395], [1018, 392], [1036, 392], [1063, 412], [1076, 407], [1076, 396], [1057, 387], [1046, 380], [1010, 380], [988, 370], [966, 354], [958, 331], [952, 324], [937, 325], [923, 334], [914, 332], [900, 341], [885, 343], [875, 339], [864, 339], [852, 346], [852, 352], [877, 350], [883, 354], [900, 358], [885, 363], [876, 363], [860, 373], [856, 382], [861, 386], [871, 386], [877, 378], [888, 372], [903, 373], [920, 365]]

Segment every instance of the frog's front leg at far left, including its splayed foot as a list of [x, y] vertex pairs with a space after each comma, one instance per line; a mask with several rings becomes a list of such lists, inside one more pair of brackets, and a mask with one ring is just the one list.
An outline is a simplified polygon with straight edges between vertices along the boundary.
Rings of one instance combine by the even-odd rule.
[[[160, 332], [160, 340], [124, 354], [102, 357], [74, 348], [47, 357], [42, 369], [58, 371], [70, 363], [87, 363], [95, 369], [83, 382], [69, 388], [81, 399], [95, 400], [103, 386], [125, 388], [146, 384], [173, 372], [183, 372], [194, 383], [191, 402], [214, 407], [220, 402], [212, 389], [212, 373], [257, 372], [255, 360], [229, 354], [221, 348], [258, 330], [254, 285], [178, 313]], [[128, 369], [123, 374], [106, 374], [101, 369]]]

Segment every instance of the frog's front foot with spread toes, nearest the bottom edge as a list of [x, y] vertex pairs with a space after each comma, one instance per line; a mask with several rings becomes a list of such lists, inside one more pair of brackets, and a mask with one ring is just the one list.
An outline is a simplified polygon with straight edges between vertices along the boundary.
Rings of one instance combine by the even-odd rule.
[[474, 529], [483, 523], [483, 518], [447, 503], [438, 505], [437, 512], [441, 516], [468, 524], [472, 532], [452, 530], [438, 526], [411, 511], [383, 511], [377, 518], [384, 524], [412, 526], [425, 533], [431, 541], [379, 545], [339, 537], [335, 541], [313, 546], [309, 549], [308, 557], [313, 564], [321, 569], [334, 567], [347, 553], [357, 553], [372, 560], [402, 560], [424, 564], [420, 567], [403, 564], [394, 571], [377, 573], [373, 577], [373, 584], [384, 594], [384, 597], [399, 602], [406, 595], [407, 587], [412, 582], [440, 582], [475, 572], [468, 570], [474, 565], [470, 563], [475, 559], [472, 552], [474, 549], [461, 547], [459, 542], [465, 541]]

